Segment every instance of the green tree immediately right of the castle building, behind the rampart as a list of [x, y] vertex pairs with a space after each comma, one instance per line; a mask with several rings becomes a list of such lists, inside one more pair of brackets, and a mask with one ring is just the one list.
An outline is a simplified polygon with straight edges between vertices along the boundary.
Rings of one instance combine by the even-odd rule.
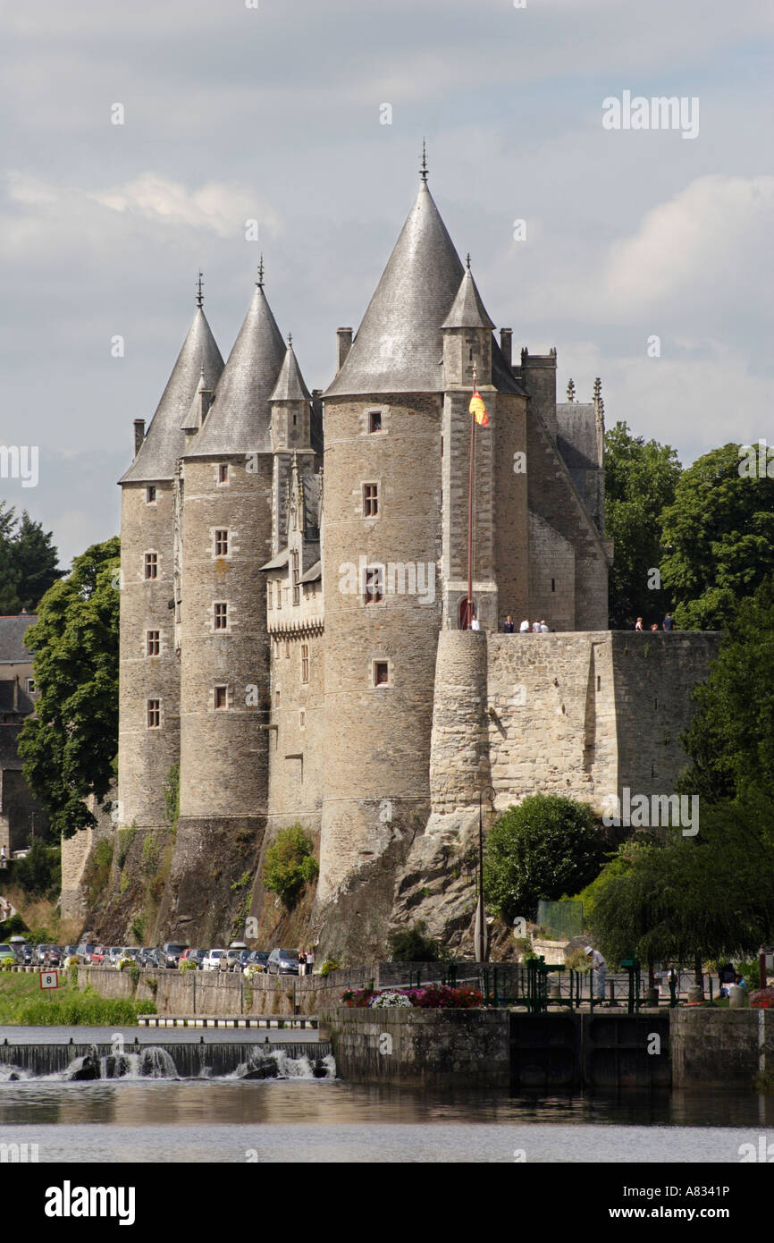
[[632, 436], [625, 423], [605, 433], [605, 533], [615, 541], [610, 571], [610, 626], [634, 626], [639, 617], [661, 620], [668, 592], [657, 585], [661, 513], [675, 500], [677, 454], [656, 440]]

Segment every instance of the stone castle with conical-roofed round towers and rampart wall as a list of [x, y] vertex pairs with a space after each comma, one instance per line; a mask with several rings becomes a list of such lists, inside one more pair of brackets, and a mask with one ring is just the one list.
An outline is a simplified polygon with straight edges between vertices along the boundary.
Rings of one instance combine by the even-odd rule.
[[[422, 914], [460, 931], [450, 859], [480, 792], [491, 815], [535, 789], [668, 789], [713, 639], [608, 630], [599, 384], [558, 403], [555, 349], [514, 362], [496, 339], [425, 168], [324, 392], [262, 267], [225, 364], [198, 303], [121, 480], [119, 823], [162, 828], [179, 764], [171, 935], [215, 935], [229, 876], [296, 822], [319, 842], [323, 950], [375, 951]], [[508, 614], [553, 633], [503, 634]]]

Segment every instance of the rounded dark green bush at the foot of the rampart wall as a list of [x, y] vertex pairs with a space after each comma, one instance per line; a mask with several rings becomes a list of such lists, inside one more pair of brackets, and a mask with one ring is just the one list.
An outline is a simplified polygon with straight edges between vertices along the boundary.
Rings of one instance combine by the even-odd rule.
[[605, 844], [585, 803], [532, 794], [492, 825], [483, 858], [487, 905], [507, 922], [534, 919], [540, 897], [559, 899], [588, 885]]

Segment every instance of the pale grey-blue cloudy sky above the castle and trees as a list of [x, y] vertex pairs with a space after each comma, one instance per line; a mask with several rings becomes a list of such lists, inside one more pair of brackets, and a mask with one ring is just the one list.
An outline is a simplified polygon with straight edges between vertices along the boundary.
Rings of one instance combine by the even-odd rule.
[[[683, 464], [774, 443], [773, 34], [770, 0], [0, 0], [0, 444], [40, 454], [0, 497], [65, 566], [117, 532], [200, 266], [226, 357], [263, 251], [324, 388], [422, 137], [514, 354], [555, 346], [560, 393], [601, 375], [608, 424]], [[625, 91], [698, 99], [697, 137], [605, 129]]]

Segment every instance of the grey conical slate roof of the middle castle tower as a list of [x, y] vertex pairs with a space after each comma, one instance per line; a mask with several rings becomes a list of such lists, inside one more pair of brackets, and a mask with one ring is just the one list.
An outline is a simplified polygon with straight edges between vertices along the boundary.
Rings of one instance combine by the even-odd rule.
[[271, 452], [268, 398], [285, 358], [285, 342], [257, 285], [215, 400], [186, 457]]

